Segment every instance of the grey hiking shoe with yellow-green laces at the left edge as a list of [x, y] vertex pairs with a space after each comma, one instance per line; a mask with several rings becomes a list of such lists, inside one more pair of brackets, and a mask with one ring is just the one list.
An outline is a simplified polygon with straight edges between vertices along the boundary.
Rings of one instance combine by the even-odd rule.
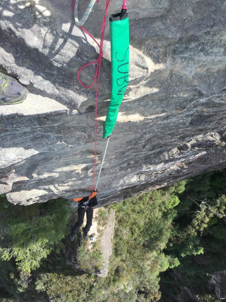
[[0, 104], [19, 104], [27, 96], [27, 88], [0, 72]]

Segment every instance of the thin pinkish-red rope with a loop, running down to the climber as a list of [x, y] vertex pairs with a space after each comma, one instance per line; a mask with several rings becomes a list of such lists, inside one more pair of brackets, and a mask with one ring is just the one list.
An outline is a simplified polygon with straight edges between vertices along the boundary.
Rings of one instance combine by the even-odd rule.
[[[102, 23], [102, 31], [101, 31], [101, 38], [100, 38], [100, 45], [99, 43], [97, 43], [97, 41], [94, 39], [94, 37], [89, 34], [88, 31], [86, 31], [82, 26], [80, 26], [83, 31], [86, 32], [86, 34], [89, 35], [89, 37], [91, 37], [94, 42], [98, 45], [100, 52], [99, 52], [99, 58], [91, 63], [88, 63], [86, 65], [84, 65], [82, 68], [79, 69], [78, 73], [77, 73], [77, 78], [78, 81], [80, 82], [81, 85], [83, 85], [86, 88], [92, 88], [95, 81], [96, 81], [96, 77], [97, 77], [97, 85], [96, 85], [96, 109], [95, 109], [95, 147], [94, 147], [94, 188], [96, 185], [96, 131], [97, 131], [97, 97], [98, 97], [98, 89], [99, 89], [99, 79], [100, 79], [100, 66], [101, 66], [101, 59], [103, 56], [103, 42], [104, 42], [104, 31], [105, 31], [105, 24], [106, 24], [106, 16], [107, 16], [107, 12], [108, 12], [108, 6], [111, 0], [106, 0], [106, 7], [105, 7], [105, 14], [104, 14], [104, 19], [103, 19], [103, 23]], [[75, 0], [74, 0], [75, 2]], [[73, 2], [73, 12], [74, 12], [74, 2]], [[83, 70], [83, 68], [85, 68], [86, 66], [89, 66], [91, 64], [97, 63], [97, 67], [96, 67], [96, 73], [93, 79], [93, 82], [90, 86], [86, 86], [79, 78], [79, 73]]]

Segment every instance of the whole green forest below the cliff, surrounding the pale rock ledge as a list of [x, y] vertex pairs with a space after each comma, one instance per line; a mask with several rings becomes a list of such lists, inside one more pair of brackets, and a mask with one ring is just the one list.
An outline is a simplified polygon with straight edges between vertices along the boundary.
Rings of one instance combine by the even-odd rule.
[[115, 209], [116, 225], [105, 278], [93, 275], [98, 245], [91, 257], [78, 248], [83, 271], [65, 263], [69, 201], [25, 207], [0, 194], [0, 302], [177, 302], [184, 287], [219, 301], [210, 280], [226, 269], [225, 183], [218, 170], [107, 206], [101, 217]]

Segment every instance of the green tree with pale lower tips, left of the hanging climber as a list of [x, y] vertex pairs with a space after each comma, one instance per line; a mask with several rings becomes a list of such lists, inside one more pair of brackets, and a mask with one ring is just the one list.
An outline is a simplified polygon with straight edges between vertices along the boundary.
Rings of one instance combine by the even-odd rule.
[[[51, 200], [22, 207], [10, 205], [5, 215], [5, 236], [0, 243], [0, 259], [16, 260], [21, 279], [26, 284], [30, 272], [38, 268], [42, 259], [62, 247], [61, 239], [67, 231], [68, 203], [63, 199]], [[25, 278], [25, 279], [24, 279]]]

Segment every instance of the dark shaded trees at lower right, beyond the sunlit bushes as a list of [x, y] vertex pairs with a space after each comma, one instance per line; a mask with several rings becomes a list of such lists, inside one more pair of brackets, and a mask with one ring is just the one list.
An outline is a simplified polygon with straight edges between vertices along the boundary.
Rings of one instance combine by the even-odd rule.
[[180, 278], [169, 288], [169, 273], [161, 275], [161, 301], [173, 300], [183, 287], [195, 291], [200, 301], [216, 301], [208, 282], [214, 271], [226, 268], [225, 179], [226, 170], [198, 175], [178, 196], [176, 232], [165, 253], [178, 258], [174, 272]]

